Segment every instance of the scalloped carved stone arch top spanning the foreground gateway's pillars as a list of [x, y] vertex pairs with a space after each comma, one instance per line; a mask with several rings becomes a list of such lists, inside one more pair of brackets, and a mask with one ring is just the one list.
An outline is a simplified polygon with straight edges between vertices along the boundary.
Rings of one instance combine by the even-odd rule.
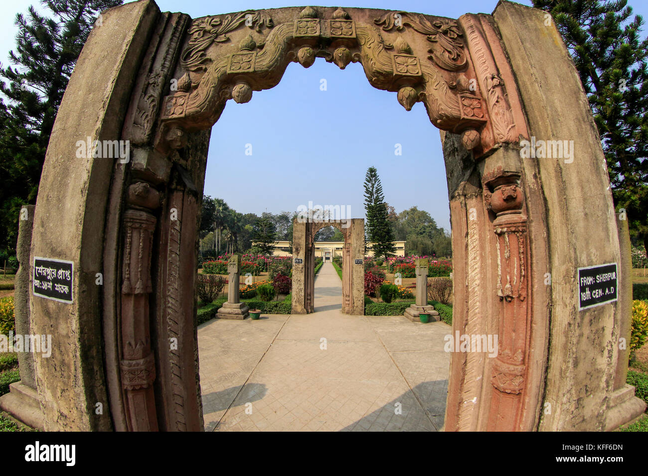
[[178, 90], [163, 99], [158, 150], [178, 146], [183, 133], [211, 127], [228, 99], [248, 102], [253, 91], [277, 85], [288, 63], [310, 67], [316, 57], [341, 69], [361, 63], [371, 85], [397, 92], [408, 111], [422, 102], [432, 124], [459, 133], [476, 157], [526, 135], [488, 48], [492, 26], [480, 17], [462, 17], [466, 34], [461, 21], [408, 12], [282, 10], [292, 15], [280, 21], [272, 18], [279, 10], [247, 10], [192, 23], [176, 70]]

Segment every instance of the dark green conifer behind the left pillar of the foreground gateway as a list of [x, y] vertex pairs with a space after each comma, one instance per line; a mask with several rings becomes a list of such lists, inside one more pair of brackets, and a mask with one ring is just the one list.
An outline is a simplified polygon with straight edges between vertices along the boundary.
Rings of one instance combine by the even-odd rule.
[[[122, 0], [43, 1], [47, 15], [29, 7], [17, 14], [13, 67], [0, 67], [0, 246], [16, 243], [21, 204], [38, 194], [45, 150], [65, 87], [99, 12]], [[10, 143], [11, 142], [11, 143]]]

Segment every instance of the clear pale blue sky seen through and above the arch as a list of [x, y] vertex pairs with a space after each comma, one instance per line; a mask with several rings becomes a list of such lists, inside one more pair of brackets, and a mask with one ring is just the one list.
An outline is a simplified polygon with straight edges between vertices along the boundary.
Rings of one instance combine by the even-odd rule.
[[[36, 3], [16, 0], [3, 5], [0, 59], [14, 47], [16, 12]], [[530, 0], [520, 3], [530, 5]], [[644, 1], [631, 1], [645, 14]], [[162, 11], [180, 10], [194, 18], [243, 9], [295, 6], [295, 1], [158, 0]], [[347, 0], [343, 6], [405, 10], [457, 18], [491, 13], [497, 0], [416, 1]], [[337, 6], [337, 5], [332, 5]], [[645, 31], [643, 32], [645, 36]], [[327, 90], [320, 90], [321, 79]], [[246, 144], [252, 155], [246, 155]], [[402, 155], [395, 155], [401, 144]], [[299, 205], [349, 205], [352, 218], [364, 217], [363, 188], [367, 167], [375, 166], [386, 201], [397, 212], [413, 205], [428, 210], [437, 224], [450, 229], [448, 190], [439, 131], [421, 103], [406, 111], [396, 93], [373, 88], [362, 66], [341, 71], [318, 58], [305, 69], [291, 63], [273, 89], [256, 92], [250, 102], [233, 100], [214, 125], [209, 144], [205, 194], [222, 198], [239, 212], [279, 212]]]

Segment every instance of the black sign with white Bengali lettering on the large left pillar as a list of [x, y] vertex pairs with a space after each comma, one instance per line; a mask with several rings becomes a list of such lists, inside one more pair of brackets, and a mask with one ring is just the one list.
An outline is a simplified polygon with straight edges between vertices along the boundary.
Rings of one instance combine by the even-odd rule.
[[34, 296], [72, 302], [73, 269], [71, 261], [34, 256]]

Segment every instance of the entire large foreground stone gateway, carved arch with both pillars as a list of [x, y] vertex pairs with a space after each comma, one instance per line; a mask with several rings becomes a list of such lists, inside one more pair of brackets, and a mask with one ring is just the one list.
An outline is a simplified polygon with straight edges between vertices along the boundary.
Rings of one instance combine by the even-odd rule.
[[[73, 264], [71, 302], [29, 299], [31, 332], [52, 335], [51, 357], [34, 356], [45, 429], [202, 429], [193, 293], [209, 129], [229, 98], [246, 102], [289, 62], [317, 56], [362, 63], [371, 85], [406, 109], [423, 102], [442, 131], [452, 331], [497, 334], [502, 350], [452, 353], [446, 429], [601, 430], [643, 412], [615, 378], [627, 368], [618, 339], [631, 271], [605, 157], [544, 12], [502, 1], [458, 20], [325, 7], [192, 20], [144, 0], [104, 12], [103, 25], [58, 110], [34, 210], [31, 255]], [[572, 161], [525, 156], [536, 137], [573, 140]], [[80, 157], [86, 138], [130, 141], [130, 157]], [[354, 280], [364, 276], [361, 221]], [[295, 227], [295, 259], [310, 225]], [[604, 263], [619, 265], [619, 300], [579, 309], [577, 270]], [[293, 295], [293, 312], [307, 312], [303, 298]]]

